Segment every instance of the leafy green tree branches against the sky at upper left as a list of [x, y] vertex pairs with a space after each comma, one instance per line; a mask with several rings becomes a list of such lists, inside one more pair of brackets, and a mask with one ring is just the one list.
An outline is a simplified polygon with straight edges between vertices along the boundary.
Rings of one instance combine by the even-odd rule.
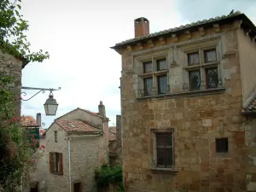
[[30, 42], [26, 39], [28, 21], [20, 15], [21, 0], [0, 1], [0, 49], [27, 61], [42, 62], [49, 59], [49, 53], [42, 49], [31, 52]]

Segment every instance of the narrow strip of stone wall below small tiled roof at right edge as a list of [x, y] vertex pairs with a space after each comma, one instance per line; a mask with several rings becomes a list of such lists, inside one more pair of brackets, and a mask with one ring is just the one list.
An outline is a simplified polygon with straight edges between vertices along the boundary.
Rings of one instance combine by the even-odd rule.
[[247, 191], [256, 191], [256, 119], [247, 118], [243, 131], [247, 150]]

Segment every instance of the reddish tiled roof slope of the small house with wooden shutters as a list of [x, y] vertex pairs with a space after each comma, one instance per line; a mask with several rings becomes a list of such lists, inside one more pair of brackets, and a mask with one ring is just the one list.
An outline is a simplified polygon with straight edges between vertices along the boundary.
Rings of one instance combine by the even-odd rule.
[[100, 133], [96, 127], [85, 124], [80, 120], [60, 120], [57, 119], [55, 122], [60, 125], [65, 131], [71, 133]]

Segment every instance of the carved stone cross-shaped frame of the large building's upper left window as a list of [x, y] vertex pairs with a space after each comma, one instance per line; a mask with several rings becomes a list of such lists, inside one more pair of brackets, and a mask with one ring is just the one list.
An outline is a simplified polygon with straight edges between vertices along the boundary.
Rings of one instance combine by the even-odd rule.
[[[167, 92], [169, 93], [169, 70], [170, 70], [170, 60], [169, 60], [169, 51], [168, 49], [162, 50], [156, 53], [148, 53], [147, 55], [137, 55], [133, 57], [134, 59], [134, 71], [137, 74], [137, 97], [147, 97], [144, 96], [144, 82], [143, 79], [148, 77], [153, 77], [153, 94], [150, 96], [158, 96], [158, 85], [157, 85], [157, 77], [160, 75], [167, 76]], [[166, 59], [166, 70], [157, 71], [157, 61], [161, 59]], [[143, 63], [147, 61], [152, 61], [153, 64], [153, 72], [152, 73], [144, 73]], [[149, 96], [149, 97], [150, 97]]]

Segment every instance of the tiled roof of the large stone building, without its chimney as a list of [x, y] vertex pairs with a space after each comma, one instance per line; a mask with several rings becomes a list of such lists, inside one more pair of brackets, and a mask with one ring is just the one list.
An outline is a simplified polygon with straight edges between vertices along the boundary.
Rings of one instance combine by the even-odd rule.
[[[208, 20], [198, 20], [197, 22], [193, 22], [193, 23], [190, 23], [190, 24], [187, 24], [187, 25], [184, 25], [184, 26], [178, 26], [178, 27], [170, 28], [170, 29], [167, 29], [167, 30], [164, 30], [164, 31], [150, 33], [148, 35], [144, 35], [144, 36], [141, 36], [141, 37], [131, 38], [131, 39], [125, 40], [121, 43], [115, 44], [112, 48], [114, 49], [114, 48], [117, 48], [117, 47], [125, 45], [125, 44], [136, 43], [140, 40], [147, 39], [147, 38], [154, 38], [154, 37], [166, 35], [168, 33], [174, 33], [174, 32], [179, 32], [179, 31], [182, 31], [182, 30], [187, 30], [187, 29], [195, 27], [195, 26], [203, 26], [203, 25], [206, 25], [208, 23], [218, 22], [220, 20], [227, 20], [229, 18], [236, 17], [236, 16], [239, 16], [239, 15], [241, 15], [243, 17], [246, 17], [246, 15], [241, 14], [240, 11], [236, 11], [235, 13], [230, 14], [230, 15], [217, 16], [215, 18], [211, 18], [211, 19], [208, 19]], [[254, 26], [254, 28], [255, 28], [255, 26]]]

